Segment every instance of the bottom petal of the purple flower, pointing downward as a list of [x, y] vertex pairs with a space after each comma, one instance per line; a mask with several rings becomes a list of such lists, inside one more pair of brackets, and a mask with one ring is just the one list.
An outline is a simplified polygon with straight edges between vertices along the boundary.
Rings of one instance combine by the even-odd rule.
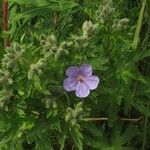
[[90, 94], [90, 90], [86, 84], [83, 82], [79, 82], [76, 88], [76, 96], [77, 97], [87, 97]]

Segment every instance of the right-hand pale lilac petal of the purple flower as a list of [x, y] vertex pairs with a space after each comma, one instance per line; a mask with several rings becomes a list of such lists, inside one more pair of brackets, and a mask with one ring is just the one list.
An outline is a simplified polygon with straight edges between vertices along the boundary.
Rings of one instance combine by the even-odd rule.
[[99, 84], [99, 78], [97, 76], [88, 76], [85, 78], [84, 83], [89, 87], [90, 90], [94, 90]]

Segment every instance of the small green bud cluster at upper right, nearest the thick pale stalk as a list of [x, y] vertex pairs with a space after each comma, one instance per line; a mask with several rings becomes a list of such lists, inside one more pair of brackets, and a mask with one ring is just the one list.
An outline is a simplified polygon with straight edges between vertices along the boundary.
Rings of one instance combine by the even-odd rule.
[[114, 23], [112, 25], [112, 29], [114, 31], [120, 31], [122, 29], [126, 29], [128, 22], [129, 22], [128, 18], [124, 18], [124, 19], [121, 19], [121, 20], [114, 19]]

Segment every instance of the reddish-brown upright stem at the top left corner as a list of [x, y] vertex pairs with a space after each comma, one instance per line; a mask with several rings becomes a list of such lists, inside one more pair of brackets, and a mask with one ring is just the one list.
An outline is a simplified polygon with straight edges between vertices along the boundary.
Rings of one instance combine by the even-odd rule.
[[[8, 31], [8, 2], [7, 0], [3, 0], [3, 31]], [[4, 48], [9, 47], [10, 43], [8, 38], [4, 38]]]

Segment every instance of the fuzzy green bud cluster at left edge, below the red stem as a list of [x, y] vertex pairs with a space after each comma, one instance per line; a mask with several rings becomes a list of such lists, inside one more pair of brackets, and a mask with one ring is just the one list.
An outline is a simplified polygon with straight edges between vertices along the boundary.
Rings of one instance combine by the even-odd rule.
[[4, 68], [14, 68], [17, 65], [17, 61], [20, 60], [23, 53], [25, 52], [24, 46], [20, 46], [18, 43], [13, 43], [10, 47], [6, 49], [6, 54], [2, 60], [2, 67]]

